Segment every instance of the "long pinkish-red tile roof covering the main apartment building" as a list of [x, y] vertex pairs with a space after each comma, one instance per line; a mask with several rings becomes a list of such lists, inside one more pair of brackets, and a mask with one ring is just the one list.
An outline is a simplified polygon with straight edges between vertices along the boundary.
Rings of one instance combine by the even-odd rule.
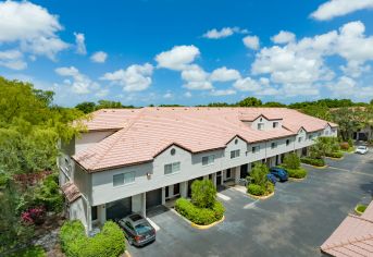
[[[282, 120], [283, 127], [258, 131], [243, 122], [260, 115]], [[87, 126], [104, 130], [105, 124], [122, 128], [73, 156], [88, 172], [151, 161], [172, 144], [200, 152], [224, 148], [236, 135], [263, 142], [295, 135], [300, 127], [320, 131], [327, 122], [285, 108], [142, 108], [100, 110]]]

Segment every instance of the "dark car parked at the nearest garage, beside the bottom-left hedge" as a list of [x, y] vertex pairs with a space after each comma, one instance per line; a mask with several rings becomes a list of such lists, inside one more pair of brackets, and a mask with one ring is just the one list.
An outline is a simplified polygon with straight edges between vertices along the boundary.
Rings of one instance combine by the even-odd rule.
[[117, 221], [123, 229], [128, 243], [136, 246], [144, 246], [156, 241], [154, 228], [138, 213], [132, 213]]

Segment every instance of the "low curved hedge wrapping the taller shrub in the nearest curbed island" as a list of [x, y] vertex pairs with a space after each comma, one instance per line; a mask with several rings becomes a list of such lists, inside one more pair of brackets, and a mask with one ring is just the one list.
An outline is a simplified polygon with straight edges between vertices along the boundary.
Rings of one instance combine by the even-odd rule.
[[213, 208], [199, 208], [185, 198], [176, 200], [175, 210], [183, 217], [199, 225], [208, 225], [223, 218], [225, 208], [215, 201]]

